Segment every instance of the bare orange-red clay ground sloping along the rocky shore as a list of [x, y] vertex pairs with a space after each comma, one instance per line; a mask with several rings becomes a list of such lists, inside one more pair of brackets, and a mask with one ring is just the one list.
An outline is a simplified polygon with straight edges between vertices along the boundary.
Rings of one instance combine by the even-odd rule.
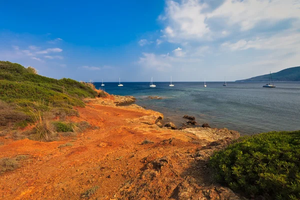
[[[115, 106], [112, 96], [76, 109], [80, 116], [71, 120], [98, 129], [52, 142], [0, 137], [0, 158], [29, 156], [0, 174], [0, 199], [239, 199], [212, 184], [206, 165], [206, 154], [228, 139], [211, 143], [160, 128], [160, 113]], [[153, 143], [141, 144], [145, 139]], [[67, 142], [73, 146], [58, 148]]]

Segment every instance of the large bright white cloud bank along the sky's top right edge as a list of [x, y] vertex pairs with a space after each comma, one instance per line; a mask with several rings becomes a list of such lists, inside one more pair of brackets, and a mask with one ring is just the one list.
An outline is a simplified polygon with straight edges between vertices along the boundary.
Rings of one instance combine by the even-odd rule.
[[[228, 35], [233, 25], [241, 31], [260, 22], [267, 25], [284, 19], [300, 20], [299, 0], [225, 0], [216, 9], [203, 0], [167, 0], [165, 13], [158, 17], [169, 42], [211, 40]], [[223, 30], [212, 28], [210, 19], [219, 21]], [[209, 21], [210, 20], [210, 21]]]

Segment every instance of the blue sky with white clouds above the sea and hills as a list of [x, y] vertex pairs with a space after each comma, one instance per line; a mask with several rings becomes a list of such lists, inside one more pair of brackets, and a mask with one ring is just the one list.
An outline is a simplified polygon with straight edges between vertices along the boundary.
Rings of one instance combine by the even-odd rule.
[[0, 60], [83, 81], [227, 81], [300, 65], [300, 0], [0, 2]]

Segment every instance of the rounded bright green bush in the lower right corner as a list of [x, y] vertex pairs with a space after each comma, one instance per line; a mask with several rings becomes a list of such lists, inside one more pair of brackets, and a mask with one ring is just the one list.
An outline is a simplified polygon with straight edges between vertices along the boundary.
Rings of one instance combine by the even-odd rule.
[[247, 195], [300, 198], [300, 131], [273, 131], [239, 140], [211, 156], [216, 181]]

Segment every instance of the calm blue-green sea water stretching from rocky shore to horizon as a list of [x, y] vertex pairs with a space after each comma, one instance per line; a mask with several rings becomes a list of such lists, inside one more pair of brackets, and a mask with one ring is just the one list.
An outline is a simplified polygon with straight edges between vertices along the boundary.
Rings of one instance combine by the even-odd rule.
[[[96, 88], [101, 83], [94, 83]], [[300, 82], [276, 82], [276, 88], [262, 87], [264, 82], [104, 82], [111, 94], [132, 95], [136, 104], [163, 113], [164, 121], [180, 126], [184, 114], [196, 117], [198, 123], [226, 127], [241, 134], [271, 130], [300, 129]], [[148, 99], [160, 96], [162, 99]]]

